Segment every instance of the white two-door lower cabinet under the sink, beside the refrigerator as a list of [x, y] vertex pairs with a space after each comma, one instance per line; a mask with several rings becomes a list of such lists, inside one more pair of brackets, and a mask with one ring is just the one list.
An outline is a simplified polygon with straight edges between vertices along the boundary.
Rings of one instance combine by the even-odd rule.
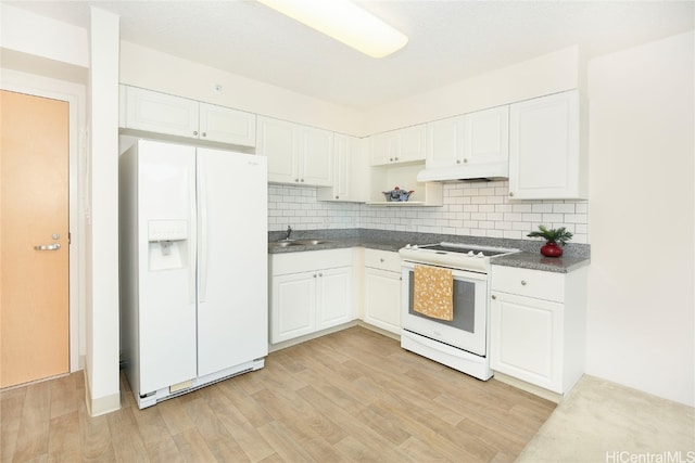
[[270, 256], [270, 344], [355, 319], [352, 255], [329, 249]]

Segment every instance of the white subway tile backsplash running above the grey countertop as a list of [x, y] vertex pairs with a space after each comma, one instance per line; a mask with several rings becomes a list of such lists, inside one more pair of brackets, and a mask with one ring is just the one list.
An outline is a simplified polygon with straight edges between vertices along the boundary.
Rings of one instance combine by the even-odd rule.
[[268, 187], [268, 228], [366, 228], [469, 236], [528, 239], [539, 224], [567, 227], [572, 243], [589, 243], [584, 201], [509, 201], [506, 181], [444, 184], [442, 207], [384, 207], [316, 201], [316, 189]]

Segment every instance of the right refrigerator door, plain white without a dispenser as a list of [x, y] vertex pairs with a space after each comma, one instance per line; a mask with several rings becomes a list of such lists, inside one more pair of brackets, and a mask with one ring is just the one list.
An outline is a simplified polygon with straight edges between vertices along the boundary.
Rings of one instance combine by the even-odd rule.
[[265, 156], [198, 149], [198, 374], [267, 355]]

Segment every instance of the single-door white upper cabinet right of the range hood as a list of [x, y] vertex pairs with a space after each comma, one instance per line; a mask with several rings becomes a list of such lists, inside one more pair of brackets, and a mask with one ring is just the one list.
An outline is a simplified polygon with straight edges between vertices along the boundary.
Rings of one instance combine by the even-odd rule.
[[515, 200], [586, 197], [577, 90], [510, 105], [509, 196]]

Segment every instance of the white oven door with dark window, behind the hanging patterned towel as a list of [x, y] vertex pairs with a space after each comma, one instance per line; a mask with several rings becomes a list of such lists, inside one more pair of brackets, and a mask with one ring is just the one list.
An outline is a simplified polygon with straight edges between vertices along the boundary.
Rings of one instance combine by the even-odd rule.
[[404, 261], [402, 268], [401, 324], [403, 329], [485, 357], [488, 275], [452, 270], [454, 276], [454, 320], [445, 321], [413, 310], [415, 263]]

